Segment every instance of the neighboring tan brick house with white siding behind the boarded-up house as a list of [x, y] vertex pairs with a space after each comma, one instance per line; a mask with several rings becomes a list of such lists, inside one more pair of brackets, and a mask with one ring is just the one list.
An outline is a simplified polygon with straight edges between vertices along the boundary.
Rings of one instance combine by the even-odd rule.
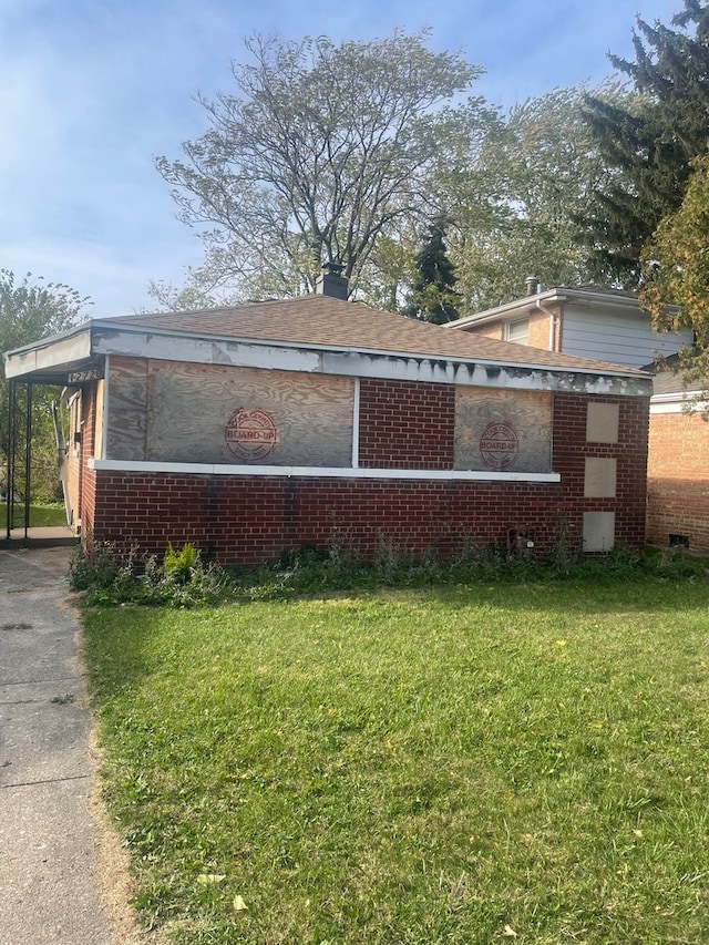
[[536, 279], [527, 279], [526, 296], [445, 328], [654, 372], [647, 541], [709, 551], [709, 424], [687, 411], [691, 392], [667, 368], [691, 343], [690, 329], [653, 331], [633, 292], [598, 286], [544, 290]]

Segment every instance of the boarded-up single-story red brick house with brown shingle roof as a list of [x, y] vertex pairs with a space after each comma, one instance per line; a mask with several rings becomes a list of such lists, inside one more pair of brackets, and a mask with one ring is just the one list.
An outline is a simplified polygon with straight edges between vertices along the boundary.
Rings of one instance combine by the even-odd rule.
[[342, 294], [330, 275], [314, 296], [94, 319], [6, 355], [14, 384], [66, 387], [84, 540], [244, 565], [306, 543], [643, 543], [647, 374]]

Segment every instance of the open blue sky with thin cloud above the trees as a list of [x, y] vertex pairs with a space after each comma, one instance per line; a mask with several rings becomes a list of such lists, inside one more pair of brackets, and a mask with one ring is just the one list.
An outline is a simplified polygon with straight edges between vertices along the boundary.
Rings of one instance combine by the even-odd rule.
[[485, 69], [473, 91], [508, 106], [600, 82], [631, 55], [635, 16], [680, 0], [0, 0], [0, 268], [91, 296], [95, 317], [152, 308], [201, 260], [155, 155], [205, 130], [196, 92], [229, 89], [253, 32], [369, 40], [431, 28]]

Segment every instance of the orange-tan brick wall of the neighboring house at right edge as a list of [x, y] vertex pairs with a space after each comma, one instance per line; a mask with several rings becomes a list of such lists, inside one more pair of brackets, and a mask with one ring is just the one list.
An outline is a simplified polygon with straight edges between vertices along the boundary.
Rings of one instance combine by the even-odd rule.
[[709, 551], [709, 423], [698, 414], [650, 417], [647, 541], [668, 545], [682, 535]]

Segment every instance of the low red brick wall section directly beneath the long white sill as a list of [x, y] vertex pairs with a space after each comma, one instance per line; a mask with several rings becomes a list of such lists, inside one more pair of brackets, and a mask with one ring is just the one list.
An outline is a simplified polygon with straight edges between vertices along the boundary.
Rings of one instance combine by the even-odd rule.
[[382, 536], [449, 554], [466, 538], [506, 543], [523, 524], [548, 549], [561, 497], [557, 484], [99, 473], [94, 536], [157, 553], [192, 542], [256, 565], [302, 543], [371, 557]]

